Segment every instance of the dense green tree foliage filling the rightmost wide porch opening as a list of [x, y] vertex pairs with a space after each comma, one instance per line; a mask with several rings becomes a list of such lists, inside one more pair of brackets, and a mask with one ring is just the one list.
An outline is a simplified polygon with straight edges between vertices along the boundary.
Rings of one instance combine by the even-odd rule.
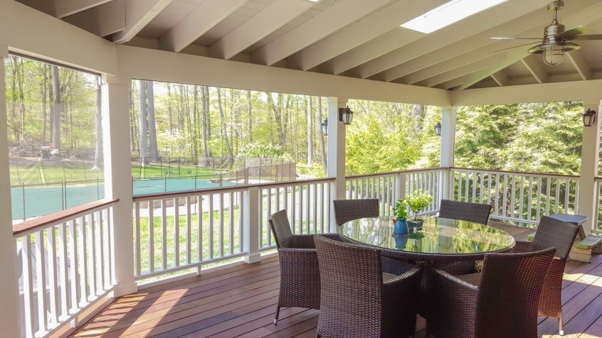
[[581, 102], [462, 107], [455, 165], [579, 175], [581, 114]]

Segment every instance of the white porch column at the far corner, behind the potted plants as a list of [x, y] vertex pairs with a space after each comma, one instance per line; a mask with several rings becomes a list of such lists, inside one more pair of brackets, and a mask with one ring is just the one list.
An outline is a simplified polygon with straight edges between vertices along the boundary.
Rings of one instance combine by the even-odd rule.
[[[455, 151], [455, 115], [458, 107], [442, 107], [441, 111], [441, 157], [439, 165], [445, 168], [453, 167]], [[441, 197], [453, 200], [453, 178], [451, 170], [443, 173], [443, 191]]]

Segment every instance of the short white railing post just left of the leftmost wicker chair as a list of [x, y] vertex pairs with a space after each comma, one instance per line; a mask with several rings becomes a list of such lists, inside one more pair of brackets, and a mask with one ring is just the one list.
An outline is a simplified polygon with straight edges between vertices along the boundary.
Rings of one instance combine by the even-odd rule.
[[261, 190], [258, 187], [249, 187], [243, 192], [243, 246], [247, 253], [243, 261], [246, 263], [255, 263], [261, 261], [259, 252], [259, 200], [261, 198]]

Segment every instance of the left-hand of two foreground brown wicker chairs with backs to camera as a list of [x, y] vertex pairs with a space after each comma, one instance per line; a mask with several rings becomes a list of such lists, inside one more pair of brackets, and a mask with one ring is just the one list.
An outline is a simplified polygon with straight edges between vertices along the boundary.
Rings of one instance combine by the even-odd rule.
[[315, 244], [322, 283], [318, 337], [414, 334], [422, 265], [388, 279], [384, 273], [396, 273], [384, 268], [378, 249], [323, 237], [317, 237]]

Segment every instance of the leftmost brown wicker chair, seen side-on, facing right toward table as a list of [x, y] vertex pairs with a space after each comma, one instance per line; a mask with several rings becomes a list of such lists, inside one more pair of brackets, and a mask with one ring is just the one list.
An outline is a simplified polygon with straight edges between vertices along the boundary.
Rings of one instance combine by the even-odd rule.
[[[269, 222], [280, 261], [280, 295], [274, 318], [276, 324], [280, 307], [320, 309], [320, 270], [314, 246], [316, 235], [292, 234], [285, 209], [272, 214]], [[338, 234], [322, 236], [342, 240]]]

